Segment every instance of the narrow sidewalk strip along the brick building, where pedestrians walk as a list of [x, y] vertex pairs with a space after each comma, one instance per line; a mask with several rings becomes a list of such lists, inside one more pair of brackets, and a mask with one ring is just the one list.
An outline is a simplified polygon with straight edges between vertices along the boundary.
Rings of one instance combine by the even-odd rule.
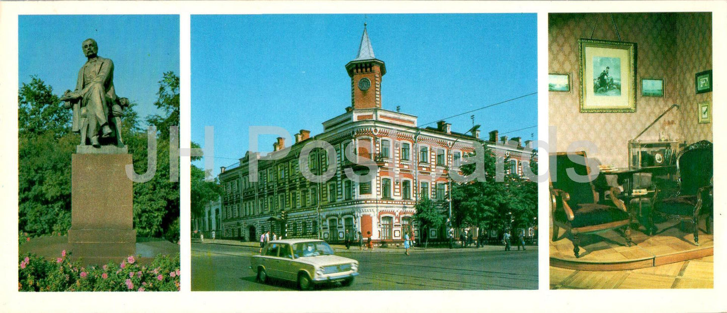
[[[238, 240], [226, 240], [226, 239], [204, 239], [204, 242], [202, 242], [199, 238], [192, 238], [193, 243], [205, 243], [205, 244], [214, 244], [214, 245], [236, 245], [239, 247], [244, 248], [250, 248], [251, 250], [257, 251], [260, 249], [260, 243], [257, 242], [250, 242], [245, 241], [241, 242]], [[405, 249], [403, 248], [403, 245], [399, 247], [388, 247], [388, 248], [374, 248], [373, 251], [370, 251], [369, 249], [364, 248], [364, 250], [358, 250], [358, 246], [351, 246], [350, 249], [346, 249], [345, 245], [331, 245], [331, 248], [333, 248], [334, 252], [353, 252], [353, 253], [403, 253]], [[527, 245], [527, 250], [531, 251], [538, 251], [537, 245]], [[484, 245], [480, 248], [477, 248], [476, 245], [470, 245], [468, 248], [459, 248], [459, 246], [456, 246], [453, 249], [450, 248], [427, 248], [424, 247], [414, 247], [409, 249], [411, 252], [414, 253], [434, 253], [434, 252], [453, 252], [453, 253], [462, 253], [462, 252], [477, 252], [477, 251], [504, 251], [505, 246], [504, 245]], [[513, 247], [512, 251], [518, 251], [517, 247]]]

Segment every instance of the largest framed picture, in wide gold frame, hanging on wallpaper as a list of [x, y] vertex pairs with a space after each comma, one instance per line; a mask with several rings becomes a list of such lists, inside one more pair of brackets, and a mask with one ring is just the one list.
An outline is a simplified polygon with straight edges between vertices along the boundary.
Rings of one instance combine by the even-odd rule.
[[636, 111], [636, 44], [579, 39], [581, 113]]

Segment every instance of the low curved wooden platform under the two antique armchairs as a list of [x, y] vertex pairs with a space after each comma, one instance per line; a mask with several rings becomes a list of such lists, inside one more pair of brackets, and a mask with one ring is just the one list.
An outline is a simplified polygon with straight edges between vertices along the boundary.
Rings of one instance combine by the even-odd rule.
[[[714, 254], [713, 236], [704, 232], [704, 219], [699, 225], [699, 245], [694, 235], [683, 232], [676, 221], [656, 224], [659, 230], [653, 236], [645, 229], [632, 229], [635, 245], [628, 247], [620, 231], [611, 230], [595, 235], [581, 235], [580, 258], [573, 253], [573, 243], [561, 228], [558, 239], [550, 242], [550, 266], [584, 271], [621, 271], [658, 267]], [[553, 229], [550, 229], [553, 237]]]

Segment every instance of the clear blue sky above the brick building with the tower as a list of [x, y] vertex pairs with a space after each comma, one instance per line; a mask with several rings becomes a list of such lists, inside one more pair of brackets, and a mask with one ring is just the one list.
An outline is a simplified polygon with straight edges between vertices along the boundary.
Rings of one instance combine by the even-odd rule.
[[[315, 135], [323, 121], [345, 112], [351, 95], [344, 65], [356, 57], [364, 22], [386, 63], [382, 107], [401, 106], [419, 126], [537, 92], [535, 14], [191, 18], [191, 139], [204, 146], [204, 126], [214, 126], [214, 174], [244, 155], [249, 126]], [[447, 121], [464, 132], [471, 114], [483, 137], [536, 126], [537, 95]], [[507, 136], [537, 139], [537, 128]], [[260, 150], [272, 150], [274, 137], [260, 137]]]

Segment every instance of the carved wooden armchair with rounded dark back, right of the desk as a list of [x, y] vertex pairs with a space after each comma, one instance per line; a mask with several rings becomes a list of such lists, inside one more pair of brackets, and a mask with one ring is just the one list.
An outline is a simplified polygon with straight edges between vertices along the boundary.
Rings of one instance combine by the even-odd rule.
[[[649, 214], [651, 234], [654, 234], [654, 215], [694, 224], [694, 244], [699, 245], [699, 214], [712, 209], [712, 142], [702, 140], [684, 149], [677, 158], [679, 191], [659, 199], [654, 195], [654, 208]], [[714, 214], [714, 212], [711, 212]]]

